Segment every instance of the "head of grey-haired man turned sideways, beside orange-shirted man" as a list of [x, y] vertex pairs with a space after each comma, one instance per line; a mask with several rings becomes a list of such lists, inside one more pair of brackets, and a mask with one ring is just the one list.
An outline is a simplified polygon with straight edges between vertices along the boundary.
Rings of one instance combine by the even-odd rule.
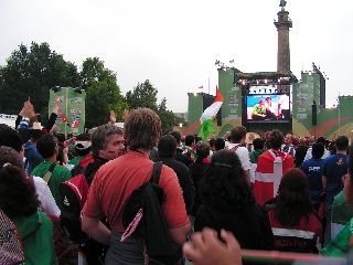
[[92, 157], [113, 160], [125, 152], [121, 128], [114, 125], [100, 125], [90, 135]]

